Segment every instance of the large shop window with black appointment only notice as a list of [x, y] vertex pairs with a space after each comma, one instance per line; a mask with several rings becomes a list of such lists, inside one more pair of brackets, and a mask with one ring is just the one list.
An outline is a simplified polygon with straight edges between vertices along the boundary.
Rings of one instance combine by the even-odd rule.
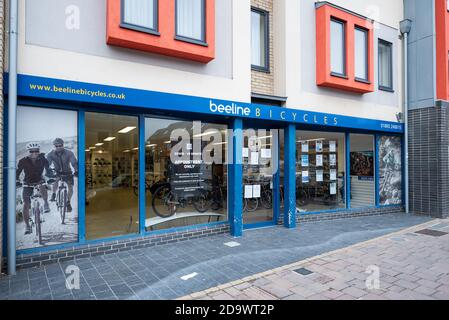
[[227, 220], [227, 126], [145, 119], [147, 231]]

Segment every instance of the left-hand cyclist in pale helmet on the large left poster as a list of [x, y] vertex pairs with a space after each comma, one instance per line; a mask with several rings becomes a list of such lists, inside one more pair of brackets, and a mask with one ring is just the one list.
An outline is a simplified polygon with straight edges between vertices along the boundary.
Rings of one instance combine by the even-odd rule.
[[26, 146], [28, 155], [19, 160], [17, 164], [16, 173], [16, 185], [21, 187], [20, 175], [22, 172], [25, 173], [23, 183], [27, 185], [23, 187], [22, 190], [22, 200], [23, 200], [23, 219], [25, 221], [25, 234], [31, 233], [30, 226], [30, 208], [31, 208], [31, 196], [33, 195], [33, 187], [39, 185], [42, 198], [44, 200], [44, 212], [50, 212], [50, 206], [48, 205], [48, 194], [47, 188], [44, 185], [45, 180], [43, 178], [43, 173], [45, 170], [46, 176], [50, 177], [49, 163], [45, 158], [44, 153], [40, 153], [40, 145], [38, 143], [29, 143]]

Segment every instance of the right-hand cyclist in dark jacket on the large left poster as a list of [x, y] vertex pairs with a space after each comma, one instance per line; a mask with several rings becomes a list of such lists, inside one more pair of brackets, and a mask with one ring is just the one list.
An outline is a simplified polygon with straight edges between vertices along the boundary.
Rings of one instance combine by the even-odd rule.
[[51, 195], [50, 201], [56, 201], [58, 182], [59, 180], [62, 180], [66, 182], [68, 186], [67, 212], [72, 212], [72, 206], [70, 202], [73, 196], [73, 177], [78, 177], [78, 160], [76, 159], [75, 154], [72, 151], [64, 148], [64, 140], [62, 140], [61, 138], [56, 138], [53, 141], [53, 146], [55, 148], [47, 154], [47, 160], [50, 166], [54, 166], [57, 180], [53, 184], [53, 193]]

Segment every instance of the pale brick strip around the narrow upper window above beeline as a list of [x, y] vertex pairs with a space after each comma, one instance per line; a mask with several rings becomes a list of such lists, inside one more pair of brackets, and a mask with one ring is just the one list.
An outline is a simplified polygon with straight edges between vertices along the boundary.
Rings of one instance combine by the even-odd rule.
[[269, 12], [269, 72], [251, 71], [251, 91], [274, 95], [273, 0], [251, 0], [251, 6]]

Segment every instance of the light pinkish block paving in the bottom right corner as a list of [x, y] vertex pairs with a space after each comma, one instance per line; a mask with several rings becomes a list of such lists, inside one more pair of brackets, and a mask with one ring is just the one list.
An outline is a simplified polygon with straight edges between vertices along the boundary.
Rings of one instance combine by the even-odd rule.
[[449, 219], [427, 222], [179, 299], [449, 300]]

